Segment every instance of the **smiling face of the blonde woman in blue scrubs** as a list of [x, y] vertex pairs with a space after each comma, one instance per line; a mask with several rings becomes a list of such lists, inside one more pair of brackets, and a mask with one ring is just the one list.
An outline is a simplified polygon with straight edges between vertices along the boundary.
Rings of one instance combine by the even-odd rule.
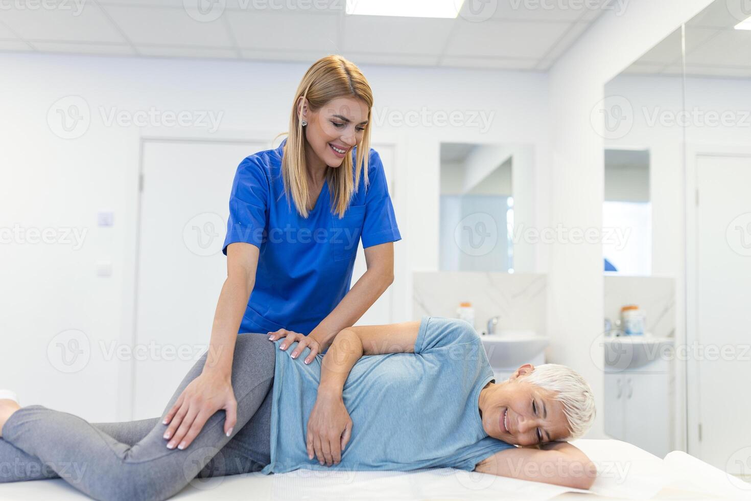
[[304, 128], [308, 159], [339, 167], [363, 138], [368, 106], [357, 98], [334, 98], [318, 110], [303, 110], [303, 119], [308, 122]]

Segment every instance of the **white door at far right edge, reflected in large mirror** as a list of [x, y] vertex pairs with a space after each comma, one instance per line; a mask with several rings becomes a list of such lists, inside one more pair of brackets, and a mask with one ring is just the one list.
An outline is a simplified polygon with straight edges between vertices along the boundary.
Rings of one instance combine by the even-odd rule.
[[700, 457], [740, 473], [733, 457], [751, 445], [751, 158], [699, 157], [697, 186]]

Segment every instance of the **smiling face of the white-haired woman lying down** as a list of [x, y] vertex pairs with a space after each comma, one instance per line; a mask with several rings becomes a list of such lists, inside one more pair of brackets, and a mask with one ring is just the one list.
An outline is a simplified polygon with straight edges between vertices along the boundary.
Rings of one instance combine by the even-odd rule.
[[566, 439], [569, 421], [553, 393], [524, 381], [534, 370], [525, 364], [501, 383], [488, 383], [480, 392], [485, 433], [514, 445], [537, 445]]

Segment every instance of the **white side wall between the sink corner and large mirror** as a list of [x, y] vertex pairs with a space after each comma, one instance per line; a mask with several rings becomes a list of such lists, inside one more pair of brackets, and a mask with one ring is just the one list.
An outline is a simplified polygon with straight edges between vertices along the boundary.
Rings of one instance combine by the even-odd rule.
[[[632, 0], [622, 16], [605, 12], [551, 68], [551, 161], [543, 174], [550, 177], [551, 226], [602, 227], [604, 128], [592, 115], [605, 83], [709, 4]], [[602, 372], [581, 349], [602, 332], [602, 246], [556, 242], [549, 252], [547, 331], [553, 343], [548, 358], [580, 370], [602, 409]], [[589, 436], [604, 436], [602, 412]]]

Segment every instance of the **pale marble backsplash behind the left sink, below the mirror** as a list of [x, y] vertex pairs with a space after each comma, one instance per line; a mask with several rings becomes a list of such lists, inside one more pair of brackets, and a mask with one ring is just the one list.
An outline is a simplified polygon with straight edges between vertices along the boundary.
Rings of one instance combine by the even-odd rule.
[[459, 303], [475, 309], [475, 329], [486, 330], [487, 320], [499, 317], [499, 330], [534, 330], [545, 334], [546, 276], [537, 273], [470, 271], [415, 272], [412, 317], [456, 318]]

